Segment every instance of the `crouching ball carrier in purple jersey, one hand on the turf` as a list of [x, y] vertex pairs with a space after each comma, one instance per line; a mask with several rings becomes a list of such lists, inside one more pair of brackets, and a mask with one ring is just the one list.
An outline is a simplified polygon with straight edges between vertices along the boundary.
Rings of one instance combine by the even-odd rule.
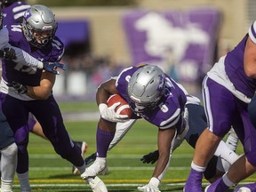
[[[107, 152], [115, 135], [116, 123], [123, 124], [122, 122], [127, 118], [124, 115], [117, 115], [115, 108], [108, 108], [108, 97], [114, 93], [119, 93], [124, 100], [128, 101], [133, 111], [133, 119], [143, 118], [158, 127], [159, 158], [155, 171], [148, 184], [138, 188], [140, 191], [157, 192], [160, 181], [170, 164], [170, 153], [180, 146], [186, 136], [190, 144], [195, 147], [196, 136], [207, 126], [200, 100], [189, 95], [180, 84], [174, 82], [170, 76], [164, 74], [160, 68], [154, 65], [125, 68], [118, 77], [100, 84], [96, 93], [101, 115], [96, 137], [97, 157], [95, 162], [82, 174], [84, 179], [95, 176], [106, 169]], [[193, 112], [194, 114], [192, 113], [191, 119], [189, 119], [189, 110], [191, 109], [198, 112], [196, 118], [199, 128], [197, 131], [193, 130], [195, 125], [191, 130], [189, 129], [189, 124], [191, 125], [193, 116], [196, 115]], [[130, 120], [126, 127], [131, 128], [134, 121]], [[128, 130], [129, 128], [126, 128], [126, 131]], [[232, 164], [237, 158], [236, 153], [230, 150], [224, 142], [220, 144], [220, 148], [216, 151], [216, 156], [221, 156], [227, 159], [229, 164]], [[226, 150], [226, 153], [222, 153], [223, 150]], [[230, 152], [230, 156], [227, 156], [227, 152]], [[215, 173], [217, 157], [212, 162], [215, 164], [212, 168]], [[212, 177], [213, 175], [211, 175]]]

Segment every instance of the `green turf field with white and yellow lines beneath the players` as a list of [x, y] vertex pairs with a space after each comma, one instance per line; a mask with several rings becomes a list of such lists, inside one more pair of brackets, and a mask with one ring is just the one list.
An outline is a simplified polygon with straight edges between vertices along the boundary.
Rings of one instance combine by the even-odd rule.
[[[94, 111], [94, 104], [74, 104], [77, 111]], [[60, 104], [65, 113], [75, 112], [72, 105]], [[89, 148], [85, 156], [95, 152], [96, 121], [66, 121], [68, 132], [73, 140], [85, 140]], [[108, 153], [108, 175], [100, 176], [109, 192], [138, 191], [137, 186], [146, 184], [151, 178], [154, 164], [140, 163], [140, 157], [156, 149], [156, 127], [140, 120], [115, 148]], [[79, 175], [72, 175], [71, 164], [57, 156], [49, 141], [30, 134], [29, 144], [30, 182], [33, 191], [92, 191]], [[238, 152], [242, 153], [239, 146]], [[184, 141], [172, 155], [172, 163], [160, 186], [161, 191], [182, 191], [188, 177], [193, 148]], [[252, 176], [245, 181], [256, 181]], [[15, 179], [14, 190], [19, 191]], [[207, 182], [204, 180], [204, 187]], [[230, 190], [232, 191], [232, 190]]]

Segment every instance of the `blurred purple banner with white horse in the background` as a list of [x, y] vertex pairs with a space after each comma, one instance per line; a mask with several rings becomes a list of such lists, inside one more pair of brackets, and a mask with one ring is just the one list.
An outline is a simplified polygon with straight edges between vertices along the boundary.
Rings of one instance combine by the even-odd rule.
[[132, 63], [158, 63], [183, 84], [201, 84], [218, 58], [221, 12], [211, 6], [186, 11], [132, 10], [123, 16]]

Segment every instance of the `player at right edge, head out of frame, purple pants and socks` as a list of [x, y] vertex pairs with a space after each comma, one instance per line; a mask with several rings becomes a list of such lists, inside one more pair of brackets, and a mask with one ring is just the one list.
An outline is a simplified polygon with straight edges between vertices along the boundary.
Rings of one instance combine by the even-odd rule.
[[[203, 98], [208, 126], [196, 142], [195, 155], [184, 187], [186, 192], [202, 190], [205, 167], [230, 126], [244, 147], [244, 155], [205, 191], [228, 191], [228, 188], [256, 172], [256, 129], [248, 112], [248, 104], [256, 91], [255, 31], [256, 21], [236, 47], [220, 57], [204, 77]], [[238, 187], [235, 191], [256, 191], [256, 183]]]

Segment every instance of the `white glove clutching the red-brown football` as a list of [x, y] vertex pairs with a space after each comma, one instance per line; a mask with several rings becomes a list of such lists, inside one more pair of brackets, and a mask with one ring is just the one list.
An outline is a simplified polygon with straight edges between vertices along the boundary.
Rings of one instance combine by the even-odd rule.
[[115, 108], [120, 105], [120, 102], [116, 102], [111, 107], [108, 108], [108, 105], [105, 103], [100, 103], [100, 116], [110, 122], [126, 122], [129, 120], [127, 115], [116, 114]]

